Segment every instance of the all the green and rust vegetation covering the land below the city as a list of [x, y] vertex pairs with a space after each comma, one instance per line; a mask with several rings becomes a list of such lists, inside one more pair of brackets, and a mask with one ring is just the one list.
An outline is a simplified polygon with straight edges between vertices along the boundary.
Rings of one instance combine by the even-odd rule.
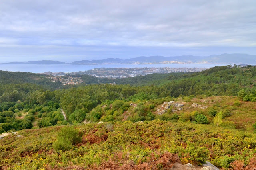
[[256, 66], [76, 76], [0, 71], [0, 169], [256, 167]]

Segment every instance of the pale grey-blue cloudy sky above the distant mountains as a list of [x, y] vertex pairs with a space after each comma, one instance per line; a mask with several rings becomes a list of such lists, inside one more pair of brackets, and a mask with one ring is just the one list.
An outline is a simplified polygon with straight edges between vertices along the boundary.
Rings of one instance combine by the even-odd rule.
[[0, 0], [2, 62], [222, 53], [256, 54], [255, 0]]

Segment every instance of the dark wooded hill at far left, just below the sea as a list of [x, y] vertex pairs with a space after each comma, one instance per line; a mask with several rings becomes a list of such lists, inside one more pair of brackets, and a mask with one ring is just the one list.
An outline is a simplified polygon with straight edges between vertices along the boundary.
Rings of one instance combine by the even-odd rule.
[[55, 90], [61, 87], [60, 82], [52, 82], [45, 74], [35, 74], [30, 72], [9, 72], [0, 70], [0, 84], [23, 84], [33, 83], [42, 85], [45, 88]]

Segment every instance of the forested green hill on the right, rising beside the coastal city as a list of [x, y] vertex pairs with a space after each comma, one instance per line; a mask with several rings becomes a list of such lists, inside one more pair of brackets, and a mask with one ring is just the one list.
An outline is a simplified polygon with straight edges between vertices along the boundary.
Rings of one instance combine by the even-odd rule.
[[196, 86], [201, 86], [203, 90], [214, 86], [218, 86], [218, 88], [222, 86], [225, 90], [228, 86], [233, 86], [234, 88], [252, 86], [255, 84], [255, 76], [255, 66], [242, 68], [237, 66], [216, 66], [202, 72], [150, 74], [147, 76], [115, 79], [114, 82], [116, 84], [130, 84], [133, 86], [180, 86], [183, 89], [182, 91]]

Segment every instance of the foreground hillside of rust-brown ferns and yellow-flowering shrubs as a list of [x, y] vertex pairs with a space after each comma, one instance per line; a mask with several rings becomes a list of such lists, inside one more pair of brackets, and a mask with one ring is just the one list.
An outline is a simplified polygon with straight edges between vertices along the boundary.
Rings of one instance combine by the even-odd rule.
[[[65, 152], [56, 150], [61, 129], [81, 137]], [[237, 159], [231, 167], [256, 166], [255, 134], [182, 122], [126, 121], [22, 130], [5, 137], [1, 144], [4, 169], [146, 170], [175, 168], [176, 162], [202, 165], [206, 160], [229, 168]]]

